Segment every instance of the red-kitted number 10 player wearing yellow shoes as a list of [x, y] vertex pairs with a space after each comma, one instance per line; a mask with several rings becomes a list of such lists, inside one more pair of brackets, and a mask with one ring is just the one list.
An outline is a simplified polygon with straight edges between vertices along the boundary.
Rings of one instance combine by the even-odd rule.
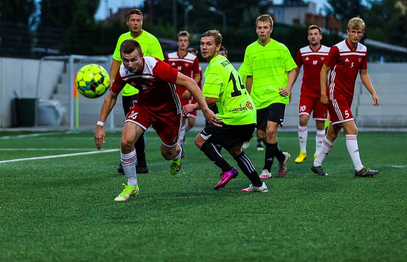
[[300, 80], [300, 123], [298, 125], [300, 154], [295, 159], [296, 163], [302, 163], [307, 158], [308, 121], [312, 111], [316, 126], [314, 160], [325, 137], [325, 121], [328, 119], [328, 106], [321, 103], [319, 74], [330, 48], [321, 45], [321, 39], [321, 27], [310, 25], [308, 27], [309, 45], [300, 48], [297, 52], [296, 64], [298, 67], [296, 68], [296, 79], [300, 73], [301, 66], [303, 66], [303, 73]]

